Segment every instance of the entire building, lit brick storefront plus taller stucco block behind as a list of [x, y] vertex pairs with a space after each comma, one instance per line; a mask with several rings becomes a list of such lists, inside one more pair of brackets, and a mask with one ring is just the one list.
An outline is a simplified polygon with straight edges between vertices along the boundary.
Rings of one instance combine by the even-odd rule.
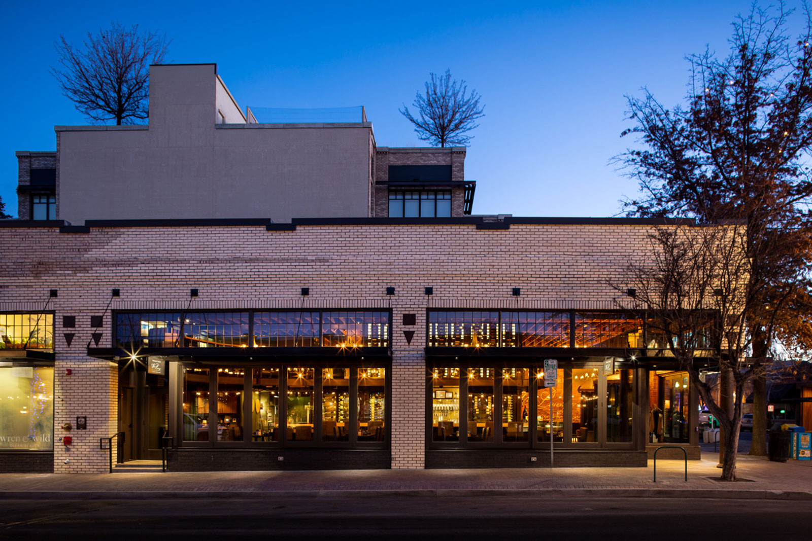
[[[201, 95], [233, 102], [210, 66], [153, 70], [158, 103], [182, 95], [162, 81], [207, 71]], [[682, 221], [464, 216], [464, 148], [376, 147], [366, 122], [229, 126], [192, 105], [199, 133], [175, 146], [144, 150], [184, 132], [161, 135], [169, 113], [151, 108], [149, 128], [58, 129], [56, 155], [19, 154], [20, 193], [54, 160], [57, 202], [55, 219], [0, 221], [6, 246], [36, 247], [0, 260], [0, 470], [102, 472], [163, 447], [171, 470], [538, 467], [551, 440], [559, 466], [645, 466], [652, 440], [698, 457], [696, 390], [619, 293], [653, 228]], [[285, 138], [304, 146], [286, 157]], [[213, 159], [154, 161], [169, 148]], [[230, 215], [243, 179], [239, 197], [136, 194], [134, 216], [113, 212], [132, 175], [154, 195], [221, 161], [282, 195], [297, 163], [322, 168], [300, 187], [318, 201], [257, 195]], [[317, 190], [334, 180], [354, 194], [338, 215]]]

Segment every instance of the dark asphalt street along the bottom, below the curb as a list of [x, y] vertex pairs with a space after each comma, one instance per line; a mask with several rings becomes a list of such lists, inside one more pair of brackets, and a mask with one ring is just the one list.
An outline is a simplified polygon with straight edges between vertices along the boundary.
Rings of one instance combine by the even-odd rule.
[[[0, 539], [810, 539], [810, 501], [422, 497], [0, 501]], [[524, 537], [527, 536], [527, 537]]]

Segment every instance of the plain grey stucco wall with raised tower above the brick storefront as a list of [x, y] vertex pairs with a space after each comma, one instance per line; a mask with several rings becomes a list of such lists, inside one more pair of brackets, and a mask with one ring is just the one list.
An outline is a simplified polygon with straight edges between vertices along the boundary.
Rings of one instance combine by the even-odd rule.
[[[217, 106], [227, 122], [216, 124]], [[58, 217], [366, 217], [369, 122], [246, 126], [213, 64], [153, 66], [149, 127], [56, 127]]]

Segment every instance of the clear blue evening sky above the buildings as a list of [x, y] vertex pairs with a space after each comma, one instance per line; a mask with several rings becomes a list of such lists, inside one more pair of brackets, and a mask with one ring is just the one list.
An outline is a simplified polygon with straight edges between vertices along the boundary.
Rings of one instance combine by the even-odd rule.
[[[15, 150], [54, 150], [89, 122], [48, 67], [54, 41], [110, 21], [171, 37], [169, 62], [216, 62], [240, 106], [365, 105], [380, 146], [425, 146], [398, 108], [447, 68], [482, 95], [465, 176], [473, 213], [611, 216], [637, 192], [609, 163], [629, 144], [626, 95], [683, 100], [685, 55], [728, 53], [749, 0], [625, 2], [9, 2], [0, 55], [0, 197], [16, 215]], [[800, 17], [794, 22], [799, 24]], [[227, 189], [227, 187], [224, 187]]]

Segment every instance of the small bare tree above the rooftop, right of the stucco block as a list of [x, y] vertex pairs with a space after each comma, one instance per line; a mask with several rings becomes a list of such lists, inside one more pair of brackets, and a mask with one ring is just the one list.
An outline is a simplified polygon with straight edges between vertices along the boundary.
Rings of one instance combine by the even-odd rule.
[[431, 80], [425, 83], [425, 96], [417, 92], [412, 103], [419, 118], [412, 116], [406, 105], [398, 109], [400, 114], [414, 124], [414, 131], [417, 131], [420, 140], [441, 147], [467, 146], [472, 136], [464, 134], [478, 127], [479, 124], [474, 121], [485, 116], [482, 113], [485, 106], [479, 106], [479, 94], [472, 90], [466, 96], [468, 86], [465, 81], [451, 81], [449, 70], [444, 75], [430, 75]]

